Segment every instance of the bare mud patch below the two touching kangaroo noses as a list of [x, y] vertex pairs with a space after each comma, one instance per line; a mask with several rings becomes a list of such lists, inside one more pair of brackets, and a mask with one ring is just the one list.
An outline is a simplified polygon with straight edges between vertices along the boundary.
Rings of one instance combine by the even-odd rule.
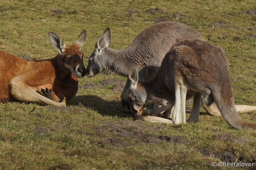
[[99, 83], [86, 82], [84, 86], [79, 86], [79, 88], [95, 89], [104, 85], [113, 85], [113, 87], [111, 88], [112, 90], [122, 91], [124, 89], [125, 83], [126, 81], [121, 81], [118, 79], [108, 79], [100, 81]]

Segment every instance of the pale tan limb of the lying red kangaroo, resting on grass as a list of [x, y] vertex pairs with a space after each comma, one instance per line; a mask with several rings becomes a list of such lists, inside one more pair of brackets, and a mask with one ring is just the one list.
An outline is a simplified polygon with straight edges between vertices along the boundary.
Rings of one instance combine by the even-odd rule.
[[22, 83], [17, 83], [15, 81], [10, 81], [9, 89], [11, 95], [22, 102], [32, 102], [32, 103], [39, 103], [39, 104], [49, 104], [54, 105], [57, 107], [66, 106], [66, 98], [62, 100], [61, 103], [54, 102], [36, 91], [34, 91], [30, 86], [27, 86]]

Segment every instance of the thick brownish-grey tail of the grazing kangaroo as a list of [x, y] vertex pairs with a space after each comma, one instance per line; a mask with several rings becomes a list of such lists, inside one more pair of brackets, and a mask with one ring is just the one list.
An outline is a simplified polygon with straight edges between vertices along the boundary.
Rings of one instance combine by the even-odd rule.
[[223, 119], [228, 123], [229, 126], [235, 129], [256, 129], [256, 124], [245, 122], [239, 117], [234, 103], [231, 82], [230, 86], [222, 86], [222, 88], [212, 89], [212, 96]]

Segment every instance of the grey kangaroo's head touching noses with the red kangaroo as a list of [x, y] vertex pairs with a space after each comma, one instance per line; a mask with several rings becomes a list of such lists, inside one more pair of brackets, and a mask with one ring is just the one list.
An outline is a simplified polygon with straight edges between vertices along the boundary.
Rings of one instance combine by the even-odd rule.
[[95, 44], [95, 49], [89, 57], [89, 63], [86, 69], [86, 75], [88, 77], [93, 77], [106, 69], [105, 65], [108, 61], [108, 57], [105, 55], [105, 50], [110, 44], [110, 40], [111, 33], [110, 29], [107, 28], [104, 33], [99, 36]]

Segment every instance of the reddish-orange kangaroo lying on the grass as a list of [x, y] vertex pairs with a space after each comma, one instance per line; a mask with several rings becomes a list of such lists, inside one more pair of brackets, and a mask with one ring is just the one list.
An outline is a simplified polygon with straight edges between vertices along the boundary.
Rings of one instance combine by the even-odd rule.
[[66, 46], [49, 32], [49, 40], [59, 54], [46, 60], [26, 60], [0, 50], [0, 102], [22, 101], [65, 106], [78, 90], [78, 78], [86, 75], [82, 46], [83, 30], [75, 43]]

